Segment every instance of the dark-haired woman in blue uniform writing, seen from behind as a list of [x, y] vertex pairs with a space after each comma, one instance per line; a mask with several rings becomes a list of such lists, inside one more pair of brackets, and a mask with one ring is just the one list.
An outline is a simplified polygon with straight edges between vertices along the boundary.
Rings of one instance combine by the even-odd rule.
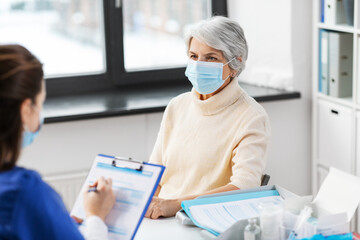
[[[84, 239], [60, 196], [37, 172], [16, 166], [39, 133], [44, 100], [42, 64], [24, 47], [0, 45], [0, 239]], [[84, 193], [85, 239], [107, 239], [112, 182], [93, 186], [97, 192]]]

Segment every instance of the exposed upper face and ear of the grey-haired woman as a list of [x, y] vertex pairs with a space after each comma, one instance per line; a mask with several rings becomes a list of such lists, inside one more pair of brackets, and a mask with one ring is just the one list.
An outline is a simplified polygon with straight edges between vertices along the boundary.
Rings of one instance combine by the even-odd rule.
[[[227, 63], [227, 60], [225, 59], [223, 53], [220, 50], [214, 49], [206, 45], [205, 43], [200, 42], [196, 38], [192, 38], [190, 40], [188, 56], [194, 61], [217, 62], [222, 64]], [[226, 79], [226, 81], [223, 85], [226, 86], [230, 82], [231, 77], [234, 77], [235, 74], [235, 70], [232, 70], [228, 64], [225, 65], [223, 67], [222, 79]]]

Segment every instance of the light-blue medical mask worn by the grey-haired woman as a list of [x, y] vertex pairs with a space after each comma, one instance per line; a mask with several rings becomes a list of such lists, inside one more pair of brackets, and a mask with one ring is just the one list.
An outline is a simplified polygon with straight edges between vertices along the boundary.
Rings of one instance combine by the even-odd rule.
[[210, 94], [218, 90], [230, 77], [222, 79], [223, 67], [235, 58], [225, 64], [216, 62], [202, 62], [189, 59], [185, 70], [185, 76], [200, 94]]

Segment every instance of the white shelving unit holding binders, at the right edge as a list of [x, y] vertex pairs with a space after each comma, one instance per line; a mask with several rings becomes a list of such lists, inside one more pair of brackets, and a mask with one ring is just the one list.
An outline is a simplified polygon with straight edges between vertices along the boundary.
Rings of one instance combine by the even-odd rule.
[[[323, 180], [325, 179], [330, 167], [335, 167], [343, 171], [360, 176], [360, 4], [359, 1], [354, 0], [353, 22], [354, 26], [347, 24], [329, 24], [329, 22], [336, 22], [340, 20], [343, 22], [339, 12], [334, 12], [335, 7], [325, 11], [324, 0], [313, 1], [313, 108], [312, 108], [312, 191], [313, 194], [319, 190]], [[337, 1], [329, 1], [328, 4], [337, 4]], [[349, 7], [350, 5], [348, 5]], [[337, 9], [338, 10], [338, 9]], [[345, 10], [345, 7], [344, 7]], [[347, 11], [347, 12], [346, 12]], [[329, 14], [326, 16], [326, 14]], [[351, 17], [349, 8], [345, 10], [345, 17]], [[319, 19], [328, 19], [328, 23], [319, 22]], [[348, 20], [348, 19], [347, 19]], [[323, 31], [321, 30], [327, 30]], [[347, 39], [341, 42], [336, 40], [334, 35], [330, 36], [327, 32], [338, 32], [352, 34], [346, 35]], [[341, 34], [338, 34], [341, 35]], [[344, 34], [343, 34], [344, 35]], [[332, 39], [330, 39], [332, 37]], [[352, 41], [351, 41], [352, 40]], [[352, 43], [352, 52], [350, 52], [349, 44]], [[342, 45], [336, 46], [341, 43]], [[333, 44], [331, 47], [330, 45]], [[332, 51], [329, 51], [329, 50]], [[325, 51], [327, 53], [323, 54]], [[340, 51], [343, 55], [351, 54], [348, 58], [339, 58]], [[331, 55], [332, 54], [332, 55]], [[330, 57], [337, 59], [351, 59], [352, 63], [344, 61], [342, 65], [340, 61], [332, 61], [332, 68], [330, 68]], [[333, 60], [333, 59], [332, 59]], [[334, 63], [335, 62], [335, 63]], [[351, 64], [351, 70], [350, 70]], [[340, 70], [340, 68], [342, 70]], [[323, 74], [322, 70], [329, 71]], [[347, 94], [352, 95], [347, 98], [336, 98], [319, 92], [319, 85], [322, 84], [319, 79], [324, 77], [329, 81], [330, 69], [335, 72], [338, 81], [343, 81], [344, 86], [349, 86], [351, 80], [351, 93], [348, 88]], [[351, 79], [339, 77], [339, 72], [336, 71], [352, 71]], [[342, 74], [343, 72], [341, 72]], [[320, 75], [320, 78], [319, 78]], [[344, 76], [344, 75], [342, 75]], [[347, 75], [349, 76], [349, 75]], [[324, 81], [325, 81], [324, 78]], [[344, 80], [345, 79], [345, 80]], [[340, 82], [334, 87], [339, 90]], [[322, 87], [321, 85], [320, 87]], [[325, 88], [329, 91], [330, 84]], [[344, 90], [344, 88], [342, 88]], [[330, 91], [329, 91], [330, 92]], [[358, 211], [360, 213], [360, 211]], [[357, 226], [352, 224], [352, 231], [360, 230], [360, 214], [354, 216], [357, 221]]]

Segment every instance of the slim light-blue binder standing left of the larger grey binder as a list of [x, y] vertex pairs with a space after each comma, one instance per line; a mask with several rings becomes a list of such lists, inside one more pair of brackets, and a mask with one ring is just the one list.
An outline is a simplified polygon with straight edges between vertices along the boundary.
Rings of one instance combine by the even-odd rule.
[[320, 30], [319, 92], [329, 94], [329, 32]]

